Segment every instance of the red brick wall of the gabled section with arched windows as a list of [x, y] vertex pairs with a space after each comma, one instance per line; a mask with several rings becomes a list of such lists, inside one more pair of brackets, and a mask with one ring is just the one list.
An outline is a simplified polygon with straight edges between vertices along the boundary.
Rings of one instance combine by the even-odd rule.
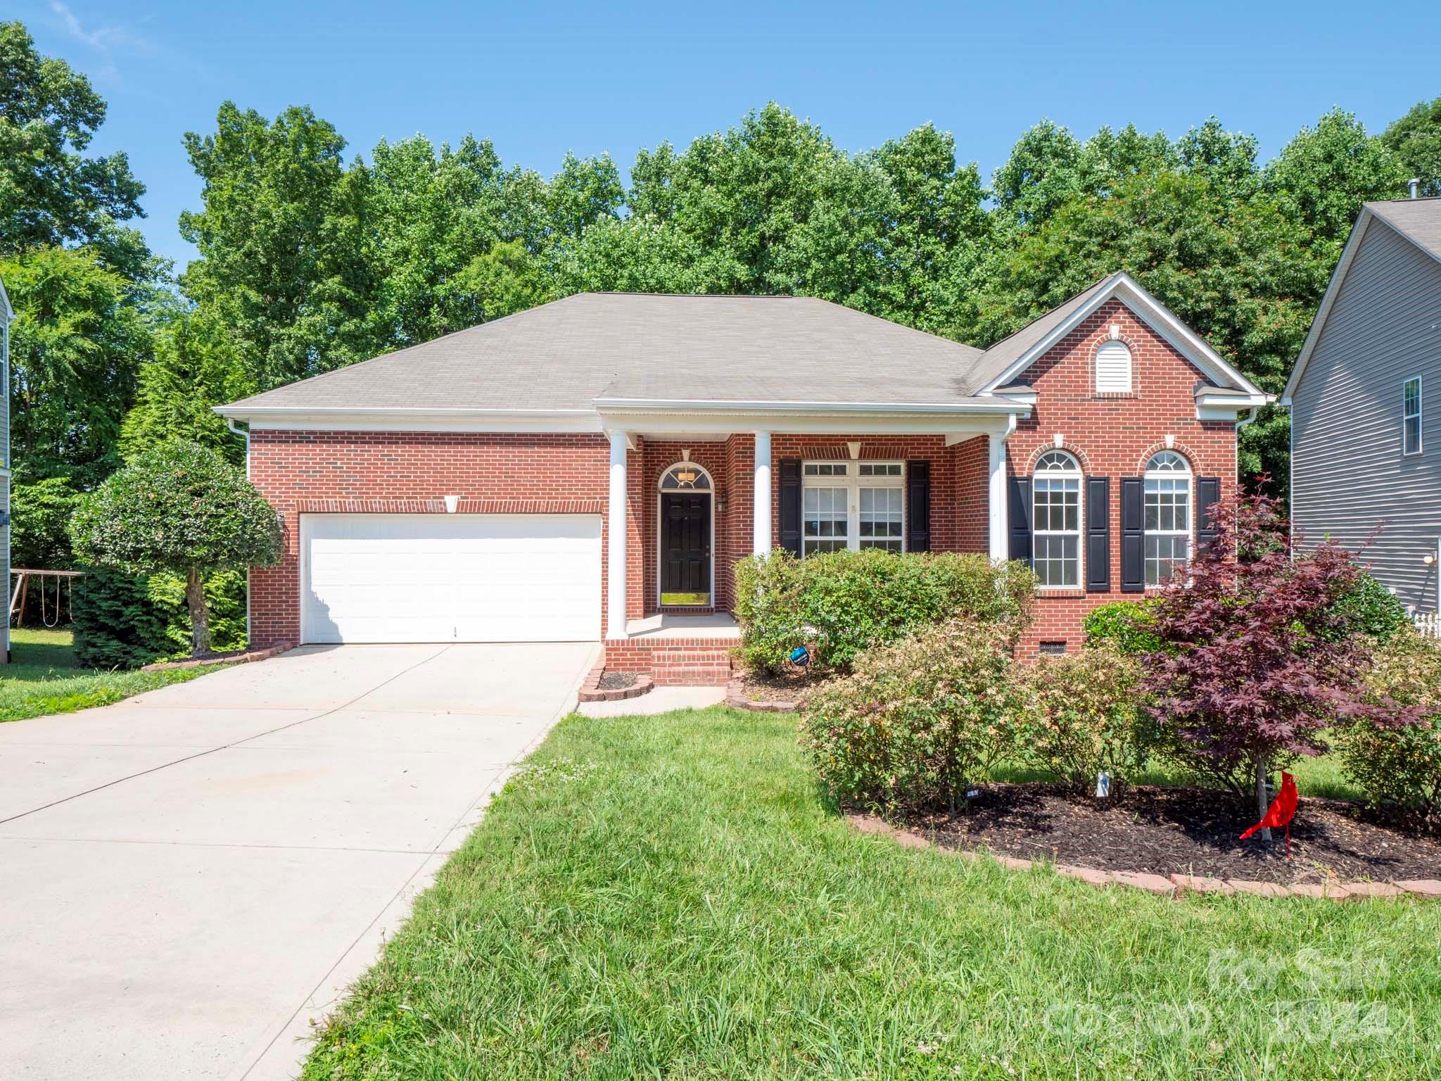
[[[1120, 326], [1121, 340], [1131, 347], [1133, 391], [1128, 395], [1095, 393], [1092, 362], [1112, 324]], [[1017, 381], [1036, 389], [1036, 405], [1007, 442], [1010, 474], [1029, 474], [1059, 434], [1065, 450], [1075, 454], [1088, 476], [1111, 477], [1112, 591], [1043, 591], [1036, 604], [1036, 624], [1025, 643], [1027, 650], [1035, 650], [1040, 641], [1065, 641], [1068, 649], [1076, 649], [1087, 611], [1097, 604], [1137, 597], [1121, 592], [1118, 479], [1141, 476], [1147, 458], [1172, 435], [1173, 450], [1190, 460], [1193, 474], [1219, 477], [1222, 494], [1229, 494], [1236, 479], [1235, 424], [1196, 419], [1196, 383], [1210, 381], [1118, 300], [1104, 304]], [[984, 477], [984, 440], [977, 444]], [[1192, 500], [1195, 503], [1195, 489]], [[1193, 525], [1196, 510], [1193, 506]]]

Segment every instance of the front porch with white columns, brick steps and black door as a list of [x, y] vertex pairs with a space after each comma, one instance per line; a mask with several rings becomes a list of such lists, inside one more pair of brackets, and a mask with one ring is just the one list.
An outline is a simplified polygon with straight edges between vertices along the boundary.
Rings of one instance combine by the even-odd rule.
[[751, 553], [1006, 556], [1009, 414], [934, 428], [934, 417], [844, 419], [608, 431], [607, 666], [656, 683], [723, 683], [739, 640], [733, 568]]

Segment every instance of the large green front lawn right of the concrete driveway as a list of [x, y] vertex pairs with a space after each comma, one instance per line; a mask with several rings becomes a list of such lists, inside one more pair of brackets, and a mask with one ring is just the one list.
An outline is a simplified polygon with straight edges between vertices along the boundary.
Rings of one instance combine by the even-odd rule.
[[1173, 902], [862, 836], [788, 716], [572, 716], [304, 1077], [1437, 1077], [1438, 941], [1441, 904]]

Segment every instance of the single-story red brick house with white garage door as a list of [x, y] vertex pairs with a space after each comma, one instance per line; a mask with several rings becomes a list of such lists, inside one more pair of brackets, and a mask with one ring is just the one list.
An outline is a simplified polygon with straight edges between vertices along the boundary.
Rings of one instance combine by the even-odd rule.
[[1187, 556], [1265, 401], [1114, 274], [987, 350], [821, 300], [579, 294], [219, 412], [285, 526], [254, 644], [601, 639], [710, 683], [732, 568], [772, 548], [1025, 559], [1029, 649], [1075, 649]]

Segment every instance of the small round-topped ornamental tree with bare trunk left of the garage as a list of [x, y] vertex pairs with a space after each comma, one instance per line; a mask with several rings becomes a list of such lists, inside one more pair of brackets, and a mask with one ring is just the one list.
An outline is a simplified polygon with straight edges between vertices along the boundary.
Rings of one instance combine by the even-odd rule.
[[71, 542], [86, 564], [183, 577], [192, 656], [199, 657], [210, 649], [206, 577], [274, 566], [281, 530], [274, 507], [241, 470], [199, 444], [169, 442], [81, 497]]

